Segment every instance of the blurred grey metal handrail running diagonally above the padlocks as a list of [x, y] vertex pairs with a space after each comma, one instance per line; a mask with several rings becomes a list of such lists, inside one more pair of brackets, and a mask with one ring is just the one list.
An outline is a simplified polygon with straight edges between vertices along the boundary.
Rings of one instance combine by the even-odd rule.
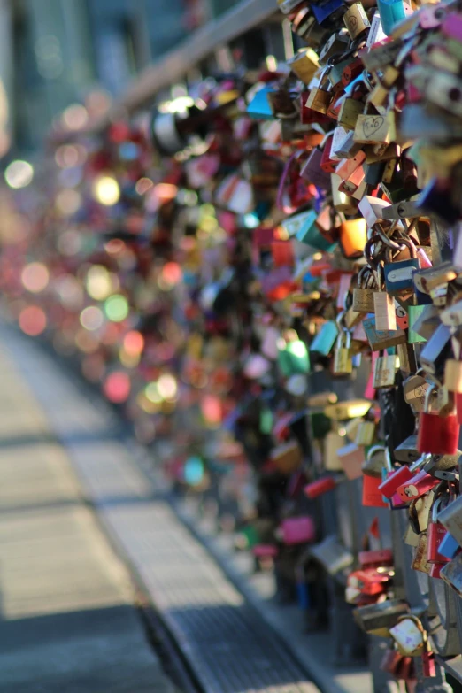
[[[106, 126], [120, 112], [133, 113], [148, 104], [160, 89], [180, 80], [198, 62], [237, 36], [245, 34], [277, 11], [275, 0], [242, 0], [232, 10], [197, 29], [187, 41], [147, 67], [127, 92], [102, 119], [91, 123], [88, 130]], [[281, 15], [281, 19], [283, 19]]]

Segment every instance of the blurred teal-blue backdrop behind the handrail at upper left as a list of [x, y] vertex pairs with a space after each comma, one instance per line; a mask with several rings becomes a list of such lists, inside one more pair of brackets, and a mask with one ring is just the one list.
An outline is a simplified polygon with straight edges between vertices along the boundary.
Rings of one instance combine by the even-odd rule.
[[34, 152], [96, 87], [127, 82], [235, 0], [0, 0], [0, 155]]

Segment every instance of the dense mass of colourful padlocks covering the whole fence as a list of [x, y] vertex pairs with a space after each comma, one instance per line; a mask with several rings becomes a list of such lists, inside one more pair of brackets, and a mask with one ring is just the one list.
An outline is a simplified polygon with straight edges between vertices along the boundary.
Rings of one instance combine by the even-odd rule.
[[462, 14], [279, 7], [309, 46], [286, 63], [53, 147], [1, 286], [318, 622], [320, 576], [342, 574], [358, 625], [390, 638], [384, 670], [432, 677], [397, 546], [373, 520], [351, 552], [320, 503], [355, 484], [401, 510], [412, 569], [462, 595]]

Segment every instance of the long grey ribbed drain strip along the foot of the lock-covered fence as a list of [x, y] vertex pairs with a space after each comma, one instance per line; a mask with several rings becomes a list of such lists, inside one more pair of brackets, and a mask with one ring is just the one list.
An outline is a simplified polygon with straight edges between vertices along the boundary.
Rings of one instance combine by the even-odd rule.
[[2, 337], [204, 691], [318, 691], [171, 506], [153, 496], [109, 408], [89, 401], [34, 344], [9, 330]]

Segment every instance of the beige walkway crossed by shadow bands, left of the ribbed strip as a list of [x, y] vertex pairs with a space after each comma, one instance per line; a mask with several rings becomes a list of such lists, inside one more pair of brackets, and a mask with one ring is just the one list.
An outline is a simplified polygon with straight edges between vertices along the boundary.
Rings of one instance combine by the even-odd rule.
[[0, 349], [0, 692], [173, 693], [126, 567]]

